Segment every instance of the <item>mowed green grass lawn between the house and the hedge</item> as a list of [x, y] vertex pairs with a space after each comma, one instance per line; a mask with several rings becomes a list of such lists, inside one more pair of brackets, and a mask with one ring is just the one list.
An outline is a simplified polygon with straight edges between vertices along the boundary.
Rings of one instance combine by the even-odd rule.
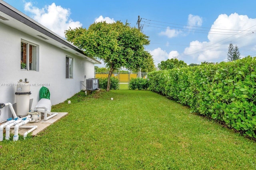
[[69, 114], [40, 135], [0, 143], [2, 169], [256, 168], [254, 141], [154, 92], [80, 92], [69, 100], [52, 107]]

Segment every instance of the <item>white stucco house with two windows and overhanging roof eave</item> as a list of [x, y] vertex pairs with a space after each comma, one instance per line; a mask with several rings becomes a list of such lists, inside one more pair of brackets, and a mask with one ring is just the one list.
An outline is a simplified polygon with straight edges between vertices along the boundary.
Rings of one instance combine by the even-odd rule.
[[[25, 78], [31, 84], [32, 109], [43, 85], [52, 105], [64, 102], [84, 90], [85, 76], [94, 78], [94, 64], [101, 63], [0, 0], [0, 103], [16, 103], [17, 84]], [[0, 111], [0, 122], [11, 117], [9, 107]]]

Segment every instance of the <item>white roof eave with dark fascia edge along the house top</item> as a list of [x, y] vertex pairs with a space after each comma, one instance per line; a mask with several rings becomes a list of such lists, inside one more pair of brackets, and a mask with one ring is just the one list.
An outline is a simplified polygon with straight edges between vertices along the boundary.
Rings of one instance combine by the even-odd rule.
[[36, 38], [41, 37], [42, 41], [55, 45], [70, 53], [76, 54], [78, 56], [82, 55], [82, 57], [94, 64], [101, 64], [100, 61], [94, 59], [93, 57], [86, 56], [84, 54], [84, 51], [82, 51], [72, 43], [66, 41], [64, 38], [60, 37], [58, 34], [54, 33], [50, 29], [44, 27], [37, 21], [26, 16], [16, 8], [10, 6], [3, 0], [0, 0], [0, 22], [25, 33], [28, 33], [29, 35]]

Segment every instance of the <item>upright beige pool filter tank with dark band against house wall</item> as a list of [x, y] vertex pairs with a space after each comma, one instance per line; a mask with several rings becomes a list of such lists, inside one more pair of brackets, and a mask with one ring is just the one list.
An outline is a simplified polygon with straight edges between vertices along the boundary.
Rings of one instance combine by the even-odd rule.
[[30, 111], [30, 84], [25, 81], [18, 82], [17, 88], [16, 88], [16, 115], [25, 117], [28, 115], [28, 112]]

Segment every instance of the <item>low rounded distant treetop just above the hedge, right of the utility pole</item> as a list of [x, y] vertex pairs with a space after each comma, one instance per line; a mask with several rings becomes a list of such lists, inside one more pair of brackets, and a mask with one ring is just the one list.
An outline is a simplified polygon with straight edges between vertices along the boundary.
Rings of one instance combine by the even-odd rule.
[[161, 61], [158, 64], [160, 70], [168, 70], [172, 68], [181, 68], [188, 66], [184, 61], [178, 59], [167, 59], [166, 61]]

